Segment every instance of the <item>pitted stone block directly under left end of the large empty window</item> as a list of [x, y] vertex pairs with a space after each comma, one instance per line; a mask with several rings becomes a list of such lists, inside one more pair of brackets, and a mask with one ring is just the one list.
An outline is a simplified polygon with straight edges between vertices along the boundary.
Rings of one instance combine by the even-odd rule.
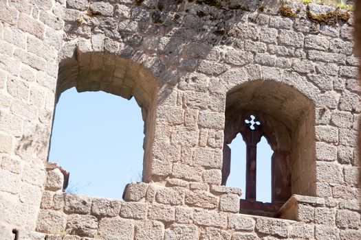
[[75, 194], [65, 194], [65, 213], [89, 214], [91, 197]]

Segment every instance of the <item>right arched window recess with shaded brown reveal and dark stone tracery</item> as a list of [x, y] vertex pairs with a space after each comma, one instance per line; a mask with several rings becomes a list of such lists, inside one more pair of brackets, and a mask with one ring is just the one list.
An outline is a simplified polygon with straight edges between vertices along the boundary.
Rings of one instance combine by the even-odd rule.
[[[271, 81], [246, 82], [228, 92], [222, 184], [226, 184], [230, 173], [228, 144], [238, 133], [248, 152], [241, 213], [276, 217], [292, 194], [315, 194], [314, 105], [307, 97], [290, 86]], [[274, 151], [271, 203], [256, 201], [256, 145], [262, 136]]]

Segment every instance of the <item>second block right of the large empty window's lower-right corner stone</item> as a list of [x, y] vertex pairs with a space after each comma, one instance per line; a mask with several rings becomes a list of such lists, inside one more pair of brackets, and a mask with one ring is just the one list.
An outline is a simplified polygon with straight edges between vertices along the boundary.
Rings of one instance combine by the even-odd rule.
[[180, 205], [184, 202], [185, 192], [181, 187], [159, 189], [155, 200], [161, 204]]

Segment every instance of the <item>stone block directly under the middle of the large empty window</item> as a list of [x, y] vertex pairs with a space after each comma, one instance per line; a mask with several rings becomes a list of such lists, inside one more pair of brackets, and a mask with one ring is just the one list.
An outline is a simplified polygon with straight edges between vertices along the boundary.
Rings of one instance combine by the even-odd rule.
[[115, 217], [120, 213], [120, 201], [105, 198], [94, 198], [91, 215], [96, 217]]

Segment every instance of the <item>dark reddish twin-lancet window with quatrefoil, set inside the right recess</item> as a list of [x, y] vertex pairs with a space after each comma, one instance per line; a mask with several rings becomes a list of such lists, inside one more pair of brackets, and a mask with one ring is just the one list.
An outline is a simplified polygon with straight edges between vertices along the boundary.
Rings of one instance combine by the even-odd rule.
[[[270, 117], [261, 112], [243, 111], [226, 119], [222, 184], [228, 182], [231, 172], [245, 177], [241, 213], [273, 216], [290, 197], [289, 152], [279, 147], [274, 132]], [[239, 156], [240, 159], [234, 159], [229, 147], [237, 134], [242, 136], [245, 143], [243, 174], [231, 167], [242, 159]], [[263, 152], [266, 151], [268, 154], [260, 154], [260, 146]], [[267, 192], [269, 195], [257, 197], [257, 193], [261, 195], [261, 192]]]

